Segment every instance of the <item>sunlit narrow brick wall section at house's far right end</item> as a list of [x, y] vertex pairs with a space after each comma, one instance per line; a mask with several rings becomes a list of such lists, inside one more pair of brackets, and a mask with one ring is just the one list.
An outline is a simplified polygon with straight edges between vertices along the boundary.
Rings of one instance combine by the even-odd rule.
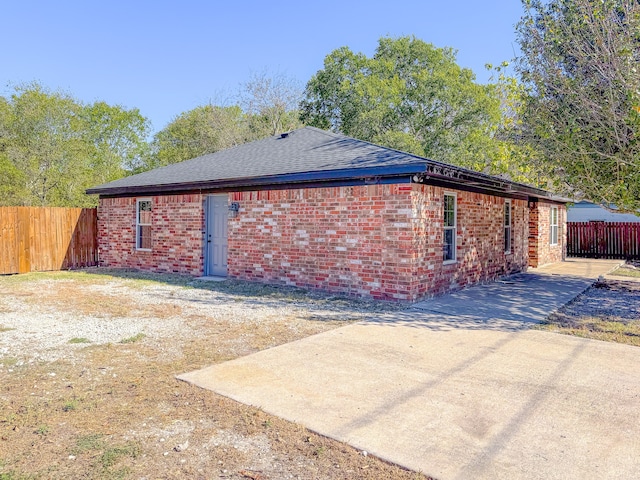
[[[558, 244], [551, 245], [551, 207], [558, 207]], [[529, 222], [529, 266], [541, 267], [562, 262], [566, 257], [567, 209], [565, 205], [550, 202], [532, 202]]]

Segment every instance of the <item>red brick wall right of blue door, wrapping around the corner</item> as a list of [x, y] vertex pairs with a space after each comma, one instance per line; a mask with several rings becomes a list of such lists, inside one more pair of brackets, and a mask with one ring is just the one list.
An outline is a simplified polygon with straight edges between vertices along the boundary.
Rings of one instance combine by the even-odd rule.
[[506, 255], [504, 199], [467, 192], [457, 192], [457, 262], [443, 265], [443, 195], [407, 184], [234, 193], [229, 275], [411, 301], [526, 269], [526, 202], [512, 201]]

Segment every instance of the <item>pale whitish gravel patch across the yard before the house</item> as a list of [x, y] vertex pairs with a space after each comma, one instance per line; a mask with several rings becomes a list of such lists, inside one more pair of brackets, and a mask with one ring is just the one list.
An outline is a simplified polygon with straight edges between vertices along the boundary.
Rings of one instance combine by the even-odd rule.
[[[247, 297], [182, 285], [153, 284], [132, 289], [127, 281], [111, 280], [88, 284], [82, 292], [76, 290], [71, 295], [111, 301], [128, 311], [114, 312], [113, 307], [107, 305], [103, 312], [83, 314], [75, 309], [73, 298], [50, 298], [60, 296], [61, 281], [64, 280], [39, 281], [37, 290], [22, 291], [19, 296], [2, 295], [0, 286], [0, 328], [4, 330], [0, 336], [0, 356], [29, 362], [71, 359], [74, 350], [85, 348], [87, 343], [118, 343], [141, 333], [150, 341], [167, 338], [185, 341], [205, 334], [209, 318], [227, 324], [283, 318], [345, 322], [360, 320], [384, 308], [376, 303], [335, 297], [310, 297], [292, 302], [286, 295], [284, 298]], [[255, 286], [254, 290], [259, 293], [260, 288]], [[43, 297], [47, 301], [39, 301]], [[294, 331], [297, 327], [296, 322], [290, 325]], [[86, 342], [69, 343], [71, 339]]]

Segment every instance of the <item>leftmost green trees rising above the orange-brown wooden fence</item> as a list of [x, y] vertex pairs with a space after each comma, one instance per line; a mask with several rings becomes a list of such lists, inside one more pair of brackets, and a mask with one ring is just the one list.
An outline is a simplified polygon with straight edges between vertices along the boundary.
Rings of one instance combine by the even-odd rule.
[[93, 205], [85, 189], [125, 176], [147, 132], [137, 110], [19, 86], [0, 98], [0, 204]]

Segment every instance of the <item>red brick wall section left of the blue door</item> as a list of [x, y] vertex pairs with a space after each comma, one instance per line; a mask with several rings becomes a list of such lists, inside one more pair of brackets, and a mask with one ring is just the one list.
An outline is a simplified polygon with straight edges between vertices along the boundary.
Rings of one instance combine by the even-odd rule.
[[[151, 199], [151, 251], [136, 249], [137, 198]], [[202, 275], [203, 201], [200, 194], [101, 198], [100, 265]]]

